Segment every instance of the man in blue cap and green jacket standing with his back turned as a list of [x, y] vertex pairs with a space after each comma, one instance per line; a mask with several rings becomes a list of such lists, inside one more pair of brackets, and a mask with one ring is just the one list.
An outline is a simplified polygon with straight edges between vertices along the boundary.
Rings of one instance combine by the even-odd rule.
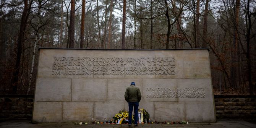
[[131, 117], [134, 107], [134, 126], [138, 126], [138, 108], [139, 101], [141, 101], [141, 92], [138, 87], [135, 87], [135, 83], [132, 82], [130, 87], [126, 88], [125, 91], [125, 100], [129, 104], [129, 126], [131, 126]]

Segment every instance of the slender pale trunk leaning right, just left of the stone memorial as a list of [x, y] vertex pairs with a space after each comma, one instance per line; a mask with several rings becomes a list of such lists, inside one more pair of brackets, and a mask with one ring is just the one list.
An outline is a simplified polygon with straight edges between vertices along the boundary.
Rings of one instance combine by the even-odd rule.
[[29, 75], [29, 86], [28, 86], [28, 92], [27, 95], [30, 92], [30, 87], [31, 87], [31, 79], [32, 79], [32, 74], [34, 70], [34, 62], [35, 62], [35, 56], [36, 56], [36, 44], [37, 44], [37, 38], [38, 38], [38, 31], [39, 31], [39, 24], [40, 24], [40, 13], [41, 13], [41, 0], [38, 0], [39, 6], [38, 6], [38, 12], [37, 12], [37, 28], [36, 28], [36, 35], [35, 35], [35, 42], [34, 42], [34, 50], [33, 50], [33, 57], [32, 57], [32, 64], [31, 64], [31, 70], [30, 70], [30, 75]]

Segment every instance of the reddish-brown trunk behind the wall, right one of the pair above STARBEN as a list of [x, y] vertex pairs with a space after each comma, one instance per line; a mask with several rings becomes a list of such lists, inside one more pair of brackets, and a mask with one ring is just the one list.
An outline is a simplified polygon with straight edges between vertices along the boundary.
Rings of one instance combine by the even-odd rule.
[[81, 32], [80, 32], [80, 49], [84, 48], [84, 19], [85, 19], [85, 0], [82, 0]]

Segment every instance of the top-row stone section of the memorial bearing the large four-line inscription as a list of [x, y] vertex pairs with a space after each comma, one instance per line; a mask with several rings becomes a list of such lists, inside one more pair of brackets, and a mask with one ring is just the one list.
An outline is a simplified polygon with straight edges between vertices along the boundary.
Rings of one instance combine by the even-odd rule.
[[42, 57], [39, 58], [38, 77], [184, 78], [183, 57], [182, 54], [177, 54], [177, 51], [72, 51], [41, 49], [40, 56]]

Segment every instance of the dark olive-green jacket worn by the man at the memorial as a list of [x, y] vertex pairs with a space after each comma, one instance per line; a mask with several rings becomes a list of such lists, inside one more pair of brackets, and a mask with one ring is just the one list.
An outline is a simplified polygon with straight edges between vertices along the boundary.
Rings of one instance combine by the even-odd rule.
[[134, 85], [127, 87], [125, 91], [125, 100], [127, 102], [140, 102], [141, 91], [139, 91], [139, 87], [135, 87]]

